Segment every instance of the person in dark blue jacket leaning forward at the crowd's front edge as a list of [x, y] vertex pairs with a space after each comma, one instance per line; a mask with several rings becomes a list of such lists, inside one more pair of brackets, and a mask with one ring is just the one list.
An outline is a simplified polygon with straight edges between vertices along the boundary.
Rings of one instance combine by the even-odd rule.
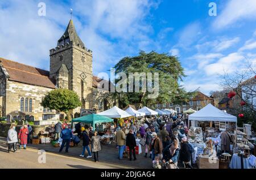
[[177, 168], [177, 160], [179, 156], [179, 144], [175, 139], [174, 142], [168, 145], [163, 150], [163, 162], [168, 162], [168, 169], [176, 169]]

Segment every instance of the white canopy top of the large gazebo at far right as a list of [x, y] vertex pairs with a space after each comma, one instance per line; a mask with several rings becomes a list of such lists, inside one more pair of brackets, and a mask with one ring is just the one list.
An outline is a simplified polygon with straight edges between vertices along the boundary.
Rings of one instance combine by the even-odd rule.
[[189, 115], [188, 121], [218, 121], [218, 122], [236, 122], [237, 117], [208, 104], [203, 109]]

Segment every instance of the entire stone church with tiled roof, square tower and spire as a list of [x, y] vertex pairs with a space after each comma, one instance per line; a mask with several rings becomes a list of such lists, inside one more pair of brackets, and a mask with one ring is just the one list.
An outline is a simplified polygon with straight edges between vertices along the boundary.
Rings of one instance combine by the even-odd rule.
[[72, 20], [57, 47], [49, 50], [49, 57], [49, 71], [0, 58], [3, 117], [8, 121], [61, 118], [59, 112], [41, 106], [42, 98], [55, 88], [71, 89], [79, 95], [82, 106], [72, 110], [73, 117], [79, 117], [81, 109], [101, 110], [109, 106], [104, 96], [98, 95], [97, 84], [101, 79], [93, 76], [92, 51], [85, 48]]

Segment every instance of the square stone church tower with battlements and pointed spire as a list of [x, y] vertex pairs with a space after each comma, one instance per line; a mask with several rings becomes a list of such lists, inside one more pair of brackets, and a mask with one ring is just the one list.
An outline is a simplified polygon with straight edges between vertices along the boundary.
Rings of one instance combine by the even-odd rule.
[[[85, 48], [76, 33], [72, 19], [57, 47], [49, 50], [50, 77], [56, 79], [57, 88], [67, 88], [79, 95], [82, 107], [92, 108], [92, 51]], [[73, 113], [79, 112], [80, 108]]]

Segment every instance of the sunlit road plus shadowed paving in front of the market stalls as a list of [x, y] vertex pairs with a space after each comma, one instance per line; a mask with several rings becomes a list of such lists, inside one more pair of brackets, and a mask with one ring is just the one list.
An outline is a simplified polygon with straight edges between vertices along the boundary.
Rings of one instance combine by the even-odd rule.
[[[130, 161], [128, 158], [118, 160], [118, 149], [115, 144], [101, 145], [99, 152], [99, 161], [94, 162], [93, 158], [80, 157], [82, 152], [81, 142], [78, 147], [69, 148], [69, 152], [59, 153], [59, 148], [53, 147], [52, 144], [27, 144], [27, 149], [20, 149], [20, 152], [7, 153], [6, 138], [0, 137], [0, 168], [24, 168], [23, 157], [26, 157], [27, 168], [150, 168], [152, 169], [152, 161], [145, 158], [144, 153], [137, 155], [136, 161]], [[144, 148], [144, 147], [142, 147]], [[38, 150], [43, 149], [47, 154], [47, 164], [38, 163]], [[143, 149], [142, 149], [143, 150]], [[143, 152], [143, 151], [142, 151]], [[22, 155], [22, 158], [19, 158]], [[92, 155], [93, 156], [93, 155]], [[2, 163], [3, 162], [3, 163]], [[6, 162], [6, 163], [5, 163]], [[8, 165], [9, 164], [9, 165]]]

